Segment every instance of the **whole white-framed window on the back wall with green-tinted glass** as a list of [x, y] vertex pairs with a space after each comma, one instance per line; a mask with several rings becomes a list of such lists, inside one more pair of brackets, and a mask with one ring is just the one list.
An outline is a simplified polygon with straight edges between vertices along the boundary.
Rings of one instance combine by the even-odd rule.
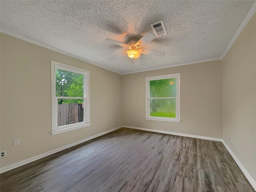
[[145, 119], [180, 122], [180, 73], [146, 77]]

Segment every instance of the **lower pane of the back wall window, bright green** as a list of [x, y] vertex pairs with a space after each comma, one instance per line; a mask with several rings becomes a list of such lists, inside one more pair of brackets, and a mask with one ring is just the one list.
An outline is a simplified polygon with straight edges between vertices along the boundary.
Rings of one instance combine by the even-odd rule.
[[150, 99], [150, 116], [176, 118], [176, 99]]

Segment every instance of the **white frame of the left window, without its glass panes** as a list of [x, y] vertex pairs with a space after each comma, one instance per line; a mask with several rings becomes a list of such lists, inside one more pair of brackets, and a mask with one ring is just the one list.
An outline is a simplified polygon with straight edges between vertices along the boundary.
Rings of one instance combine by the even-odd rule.
[[[84, 97], [56, 96], [56, 69], [75, 72], [84, 75]], [[51, 60], [52, 84], [52, 134], [59, 134], [78, 128], [90, 126], [90, 71]], [[84, 99], [84, 122], [58, 127], [58, 99]]]

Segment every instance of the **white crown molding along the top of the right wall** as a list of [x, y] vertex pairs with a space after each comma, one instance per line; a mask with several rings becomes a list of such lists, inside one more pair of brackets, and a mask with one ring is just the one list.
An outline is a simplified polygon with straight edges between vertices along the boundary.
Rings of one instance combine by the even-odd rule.
[[256, 12], [256, 1], [254, 2], [254, 4], [252, 5], [250, 11], [248, 12], [248, 14], [246, 15], [246, 17], [244, 18], [243, 22], [241, 23], [241, 25], [239, 26], [238, 30], [236, 31], [236, 33], [234, 34], [234, 36], [232, 37], [232, 39], [230, 40], [228, 46], [226, 47], [226, 49], [224, 50], [222, 56], [220, 57], [221, 60], [223, 60], [224, 56], [228, 53], [228, 50], [231, 48], [231, 46], [234, 44], [234, 42], [236, 41], [236, 39], [238, 38], [238, 36], [240, 35], [240, 33], [242, 32], [242, 30], [244, 29], [244, 27], [248, 24], [248, 22], [250, 21], [250, 19], [252, 18], [252, 16], [254, 15], [254, 13]]

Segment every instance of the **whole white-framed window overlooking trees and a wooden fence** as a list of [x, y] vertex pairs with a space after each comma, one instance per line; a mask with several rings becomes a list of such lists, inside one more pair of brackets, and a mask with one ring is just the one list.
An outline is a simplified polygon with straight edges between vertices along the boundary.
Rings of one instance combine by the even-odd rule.
[[89, 71], [51, 61], [52, 134], [90, 126]]

